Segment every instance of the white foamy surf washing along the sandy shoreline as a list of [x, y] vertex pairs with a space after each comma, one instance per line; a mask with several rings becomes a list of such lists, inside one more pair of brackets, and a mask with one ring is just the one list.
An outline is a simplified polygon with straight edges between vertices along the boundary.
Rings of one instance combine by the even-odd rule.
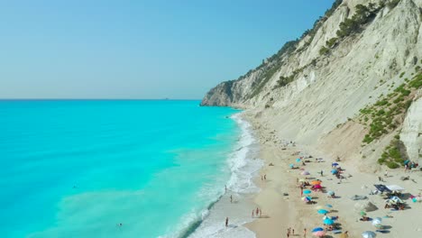
[[[256, 176], [262, 162], [255, 160], [259, 147], [253, 137], [251, 124], [244, 121], [241, 114], [234, 114], [232, 119], [239, 125], [242, 133], [234, 151], [228, 156], [231, 177], [226, 184], [227, 192], [209, 211], [203, 212], [202, 223], [189, 238], [255, 237], [242, 224], [252, 222], [253, 205], [248, 198], [259, 191], [252, 178]], [[233, 196], [234, 203], [230, 202], [230, 196]], [[225, 227], [225, 217], [229, 217], [228, 227]]]

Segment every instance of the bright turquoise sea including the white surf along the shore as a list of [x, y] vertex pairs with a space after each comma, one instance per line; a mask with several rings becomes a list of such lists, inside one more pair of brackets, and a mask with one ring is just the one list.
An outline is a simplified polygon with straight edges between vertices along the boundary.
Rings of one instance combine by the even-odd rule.
[[198, 104], [0, 101], [0, 236], [222, 233], [225, 186], [256, 191], [260, 164], [238, 111]]

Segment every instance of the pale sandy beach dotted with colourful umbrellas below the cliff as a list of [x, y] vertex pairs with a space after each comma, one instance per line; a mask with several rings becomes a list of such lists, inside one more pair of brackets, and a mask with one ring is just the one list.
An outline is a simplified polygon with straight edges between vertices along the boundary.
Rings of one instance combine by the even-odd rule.
[[[326, 226], [323, 224], [323, 216], [317, 213], [318, 208], [329, 211], [328, 216], [338, 216], [335, 223], [339, 225], [339, 232], [326, 232], [325, 237], [341, 237], [340, 234], [348, 231], [348, 237], [362, 237], [365, 231], [372, 231], [377, 237], [422, 237], [422, 203], [420, 199], [413, 202], [409, 196], [420, 196], [422, 191], [422, 172], [414, 170], [406, 172], [403, 169], [381, 168], [373, 161], [362, 168], [359, 160], [341, 160], [338, 162], [342, 171], [343, 179], [338, 179], [331, 174], [332, 163], [335, 158], [316, 151], [315, 148], [305, 148], [298, 144], [293, 145], [278, 138], [274, 129], [268, 124], [262, 124], [259, 120], [245, 116], [252, 124], [256, 136], [261, 144], [260, 159], [264, 160], [264, 166], [260, 171], [260, 177], [256, 178], [256, 184], [261, 192], [253, 197], [253, 202], [261, 208], [261, 218], [256, 218], [252, 223], [245, 226], [256, 233], [257, 237], [288, 237], [288, 228], [294, 229], [290, 237], [304, 237], [304, 229], [307, 229], [306, 237], [313, 237], [312, 230], [315, 227]], [[296, 160], [301, 156], [311, 158]], [[316, 158], [322, 158], [316, 162]], [[302, 164], [305, 162], [305, 165]], [[290, 169], [294, 164], [298, 169]], [[302, 176], [304, 170], [309, 175]], [[323, 171], [323, 176], [320, 172]], [[362, 171], [364, 170], [364, 171]], [[266, 180], [261, 176], [266, 175]], [[401, 180], [401, 177], [409, 177]], [[324, 191], [312, 191], [309, 194], [316, 204], [307, 204], [302, 201], [300, 195], [300, 183], [298, 179], [320, 179]], [[382, 181], [379, 181], [381, 178]], [[392, 210], [384, 208], [385, 200], [381, 195], [370, 195], [376, 188], [374, 184], [399, 185], [405, 188], [402, 192], [403, 201], [406, 203], [404, 210]], [[308, 188], [305, 188], [308, 189]], [[326, 191], [334, 191], [335, 198], [328, 197]], [[365, 196], [367, 199], [352, 200], [353, 196]], [[420, 197], [418, 197], [420, 198]], [[381, 217], [382, 229], [377, 229], [372, 221], [360, 221], [362, 206], [371, 202], [376, 209], [366, 212], [366, 216], [372, 219]], [[328, 207], [328, 206], [332, 207]], [[409, 218], [411, 217], [411, 218]], [[377, 232], [383, 231], [383, 233]]]

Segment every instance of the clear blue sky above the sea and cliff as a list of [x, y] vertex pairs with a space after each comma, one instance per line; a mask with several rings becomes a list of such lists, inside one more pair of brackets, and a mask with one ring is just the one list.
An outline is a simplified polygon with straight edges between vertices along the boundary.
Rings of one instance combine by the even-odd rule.
[[333, 0], [0, 2], [0, 98], [202, 98]]

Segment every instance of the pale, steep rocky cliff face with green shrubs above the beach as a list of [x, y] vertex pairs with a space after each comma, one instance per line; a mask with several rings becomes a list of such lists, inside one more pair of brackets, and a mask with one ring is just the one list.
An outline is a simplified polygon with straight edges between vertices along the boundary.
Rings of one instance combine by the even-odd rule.
[[[338, 124], [419, 73], [422, 0], [392, 2], [344, 0], [299, 41], [238, 80], [211, 89], [201, 105], [249, 108], [281, 138], [319, 143]], [[419, 99], [408, 111], [405, 128], [419, 126], [420, 132], [421, 111]], [[420, 136], [406, 138], [416, 160]]]

